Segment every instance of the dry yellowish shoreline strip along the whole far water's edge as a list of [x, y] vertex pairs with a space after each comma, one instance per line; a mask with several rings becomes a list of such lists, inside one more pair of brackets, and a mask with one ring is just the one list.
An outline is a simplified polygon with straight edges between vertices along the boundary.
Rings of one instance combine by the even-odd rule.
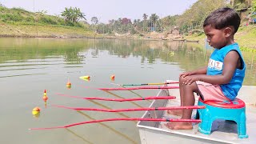
[[[256, 26], [241, 26], [235, 39], [239, 46], [243, 49], [256, 50]], [[154, 35], [155, 34], [155, 35]], [[55, 26], [34, 26], [34, 25], [12, 25], [9, 23], [0, 22], [0, 38], [57, 38], [57, 39], [71, 39], [71, 38], [97, 38], [97, 39], [139, 39], [150, 41], [165, 41], [165, 42], [198, 42], [203, 43], [205, 36], [190, 35], [182, 36], [177, 39], [163, 38], [163, 33], [150, 33], [145, 36], [139, 34], [130, 34], [127, 36], [114, 36], [94, 34], [90, 30], [81, 27], [55, 27]]]

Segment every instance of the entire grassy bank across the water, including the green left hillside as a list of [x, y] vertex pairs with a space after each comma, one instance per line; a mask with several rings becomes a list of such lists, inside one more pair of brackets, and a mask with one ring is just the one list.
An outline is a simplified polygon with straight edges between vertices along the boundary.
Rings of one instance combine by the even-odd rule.
[[[151, 32], [141, 37], [138, 34], [129, 36], [94, 35], [86, 22], [67, 22], [63, 18], [47, 15], [43, 12], [30, 12], [21, 8], [8, 9], [0, 6], [0, 37], [28, 38], [134, 38], [161, 40], [165, 33]], [[182, 36], [181, 36], [182, 37]], [[205, 42], [204, 34], [186, 36], [186, 40]], [[169, 38], [171, 39], [171, 38]], [[235, 41], [242, 50], [256, 52], [256, 26], [240, 26]]]

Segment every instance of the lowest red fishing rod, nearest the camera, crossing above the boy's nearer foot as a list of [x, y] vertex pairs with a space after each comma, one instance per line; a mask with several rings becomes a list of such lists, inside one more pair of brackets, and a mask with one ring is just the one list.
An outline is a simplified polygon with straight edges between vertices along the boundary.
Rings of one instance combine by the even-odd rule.
[[170, 119], [170, 118], [108, 118], [108, 119], [100, 119], [94, 121], [86, 121], [86, 122], [78, 122], [66, 126], [54, 126], [54, 127], [45, 127], [45, 128], [31, 128], [29, 130], [50, 130], [50, 129], [62, 129], [68, 128], [71, 126], [78, 126], [82, 124], [88, 123], [96, 123], [96, 122], [110, 122], [110, 121], [153, 121], [153, 122], [201, 122], [200, 119]]

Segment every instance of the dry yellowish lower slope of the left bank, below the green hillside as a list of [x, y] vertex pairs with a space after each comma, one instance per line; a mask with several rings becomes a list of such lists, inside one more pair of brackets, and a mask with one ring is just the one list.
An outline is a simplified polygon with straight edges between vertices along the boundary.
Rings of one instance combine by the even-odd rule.
[[26, 25], [0, 22], [1, 37], [30, 38], [88, 38], [94, 37], [90, 30], [75, 26]]

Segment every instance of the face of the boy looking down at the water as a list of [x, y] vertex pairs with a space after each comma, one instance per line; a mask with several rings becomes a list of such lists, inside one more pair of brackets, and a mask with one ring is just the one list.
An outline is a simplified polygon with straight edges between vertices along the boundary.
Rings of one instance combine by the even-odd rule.
[[203, 30], [207, 36], [207, 42], [209, 42], [209, 45], [220, 49], [223, 46], [226, 46], [226, 37], [224, 30], [218, 30], [215, 29], [213, 26], [204, 26]]

